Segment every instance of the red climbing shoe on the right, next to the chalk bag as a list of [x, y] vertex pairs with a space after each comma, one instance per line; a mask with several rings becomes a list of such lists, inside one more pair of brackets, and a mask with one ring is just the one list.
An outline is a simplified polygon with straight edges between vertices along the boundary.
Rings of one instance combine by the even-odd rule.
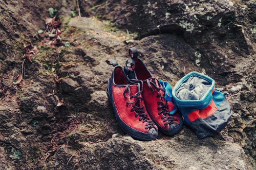
[[[126, 62], [124, 71], [128, 78], [143, 81], [142, 96], [150, 118], [164, 134], [170, 136], [178, 134], [183, 125], [179, 111], [171, 101], [165, 99], [165, 89], [138, 58], [137, 49], [129, 49], [129, 55], [131, 59]], [[135, 65], [132, 70], [128, 69], [129, 63]]]

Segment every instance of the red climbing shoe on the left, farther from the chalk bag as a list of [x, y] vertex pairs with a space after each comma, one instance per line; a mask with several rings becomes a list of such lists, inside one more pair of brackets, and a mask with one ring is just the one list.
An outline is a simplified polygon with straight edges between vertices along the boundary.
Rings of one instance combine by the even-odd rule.
[[157, 126], [145, 109], [140, 88], [141, 81], [130, 82], [115, 60], [107, 60], [113, 72], [107, 84], [108, 100], [113, 107], [119, 126], [130, 136], [139, 140], [154, 140]]

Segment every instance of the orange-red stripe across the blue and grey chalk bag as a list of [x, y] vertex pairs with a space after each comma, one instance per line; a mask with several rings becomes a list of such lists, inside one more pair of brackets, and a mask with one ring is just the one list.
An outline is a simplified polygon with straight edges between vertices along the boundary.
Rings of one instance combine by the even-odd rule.
[[192, 111], [190, 114], [188, 114], [188, 117], [191, 122], [199, 118], [205, 119], [212, 116], [216, 110], [217, 106], [215, 102], [212, 100], [212, 102], [206, 108], [202, 110]]

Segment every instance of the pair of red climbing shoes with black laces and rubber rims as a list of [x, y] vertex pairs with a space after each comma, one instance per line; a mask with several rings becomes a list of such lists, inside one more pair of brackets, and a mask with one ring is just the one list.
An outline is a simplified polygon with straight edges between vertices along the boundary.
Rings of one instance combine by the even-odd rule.
[[114, 67], [107, 96], [119, 126], [139, 140], [156, 139], [158, 130], [169, 136], [178, 134], [183, 122], [168, 100], [171, 94], [166, 82], [152, 76], [136, 48], [129, 49], [129, 55], [124, 68], [113, 59], [106, 61]]

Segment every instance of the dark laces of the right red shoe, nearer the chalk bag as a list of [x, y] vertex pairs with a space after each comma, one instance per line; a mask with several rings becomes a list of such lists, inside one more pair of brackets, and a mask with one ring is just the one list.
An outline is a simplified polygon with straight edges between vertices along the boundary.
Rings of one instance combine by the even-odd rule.
[[[154, 81], [158, 84], [158, 86], [154, 83]], [[151, 85], [153, 85], [156, 90], [157, 90], [157, 95], [156, 97], [157, 98], [160, 98], [160, 101], [157, 102], [158, 104], [158, 110], [161, 110], [158, 115], [161, 115], [163, 114], [163, 116], [161, 117], [161, 119], [163, 119], [163, 121], [165, 122], [165, 126], [168, 125], [168, 124], [173, 124], [175, 123], [174, 121], [177, 120], [175, 119], [172, 115], [169, 114], [169, 107], [167, 105], [167, 101], [165, 100], [165, 96], [164, 95], [161, 95], [160, 91], [164, 92], [165, 94], [165, 90], [163, 88], [161, 88], [160, 86], [160, 83], [158, 81], [157, 78], [149, 78], [146, 80], [148, 86], [149, 86], [149, 89], [154, 92], [154, 89]]]

